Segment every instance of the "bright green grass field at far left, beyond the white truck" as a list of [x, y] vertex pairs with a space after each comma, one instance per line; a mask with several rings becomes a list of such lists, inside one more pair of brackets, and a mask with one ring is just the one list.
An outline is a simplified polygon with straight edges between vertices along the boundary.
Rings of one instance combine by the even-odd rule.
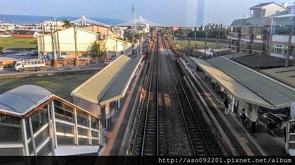
[[35, 38], [0, 38], [0, 47], [36, 47], [36, 41], [32, 41], [34, 39]]

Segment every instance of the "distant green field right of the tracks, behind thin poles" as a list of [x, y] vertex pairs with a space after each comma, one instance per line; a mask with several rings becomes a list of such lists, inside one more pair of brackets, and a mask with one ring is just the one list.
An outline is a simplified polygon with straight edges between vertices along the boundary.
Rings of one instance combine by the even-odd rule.
[[[192, 41], [190, 42], [191, 47], [195, 47], [197, 43], [197, 47], [205, 47], [205, 41]], [[188, 46], [188, 40], [176, 40], [176, 45], [180, 45], [181, 47]], [[224, 42], [219, 42], [219, 47], [226, 47], [227, 44]], [[207, 47], [216, 47], [216, 42], [207, 42]]]

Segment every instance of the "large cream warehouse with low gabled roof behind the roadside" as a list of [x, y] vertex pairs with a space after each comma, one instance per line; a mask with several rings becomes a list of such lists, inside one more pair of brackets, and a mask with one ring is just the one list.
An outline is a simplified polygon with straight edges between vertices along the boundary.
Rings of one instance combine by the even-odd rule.
[[94, 44], [99, 45], [101, 53], [107, 59], [117, 58], [121, 54], [132, 53], [132, 44], [107, 35], [98, 34], [82, 28], [69, 27], [37, 38], [39, 56], [52, 56], [56, 51], [58, 57], [75, 58], [91, 54]]

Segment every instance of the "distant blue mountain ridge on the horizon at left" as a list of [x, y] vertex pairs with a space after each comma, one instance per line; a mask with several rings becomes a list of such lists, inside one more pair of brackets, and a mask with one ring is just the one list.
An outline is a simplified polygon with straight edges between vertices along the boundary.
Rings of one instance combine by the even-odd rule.
[[[6, 15], [0, 14], [0, 21], [8, 24], [39, 24], [39, 21], [43, 20], [53, 20], [62, 21], [63, 19], [69, 19], [71, 21], [77, 20], [81, 17], [51, 17], [51, 16], [29, 16], [29, 15]], [[86, 16], [86, 18], [88, 18]], [[113, 18], [89, 18], [91, 20], [101, 22], [104, 24], [121, 24], [125, 22], [124, 20], [113, 19]]]

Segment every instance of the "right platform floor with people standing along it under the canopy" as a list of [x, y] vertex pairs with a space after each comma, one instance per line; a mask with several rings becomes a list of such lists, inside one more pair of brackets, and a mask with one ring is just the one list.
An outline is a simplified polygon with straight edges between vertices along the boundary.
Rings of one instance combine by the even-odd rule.
[[[266, 131], [250, 134], [251, 121], [242, 131], [239, 114], [230, 112], [228, 116], [224, 115], [224, 99], [221, 99], [220, 91], [212, 89], [211, 79], [203, 71], [192, 71], [189, 66], [181, 60], [183, 67], [195, 86], [201, 86], [202, 96], [206, 101], [211, 113], [217, 119], [226, 138], [231, 142], [233, 155], [241, 156], [286, 156], [282, 138], [270, 136]], [[200, 92], [201, 93], [201, 92]], [[262, 126], [263, 127], [263, 126]]]

